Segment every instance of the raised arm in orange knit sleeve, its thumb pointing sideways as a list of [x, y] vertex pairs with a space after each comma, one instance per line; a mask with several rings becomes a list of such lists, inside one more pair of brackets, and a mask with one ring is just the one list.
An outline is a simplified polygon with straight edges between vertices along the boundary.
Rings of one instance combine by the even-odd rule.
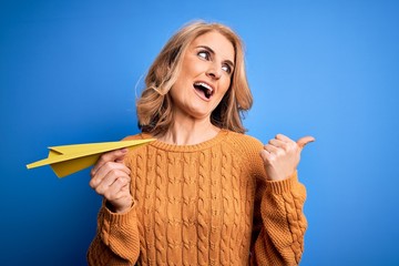
[[260, 152], [266, 180], [257, 183], [253, 265], [298, 265], [307, 222], [303, 213], [306, 191], [297, 178], [297, 165], [311, 136], [294, 142], [278, 134]]

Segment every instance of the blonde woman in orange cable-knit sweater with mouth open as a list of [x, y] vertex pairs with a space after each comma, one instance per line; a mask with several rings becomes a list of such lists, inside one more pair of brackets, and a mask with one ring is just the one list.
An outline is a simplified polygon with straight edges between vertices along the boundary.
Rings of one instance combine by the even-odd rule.
[[306, 136], [245, 135], [252, 105], [239, 38], [195, 22], [163, 48], [137, 101], [131, 152], [104, 154], [90, 265], [297, 265], [307, 227], [296, 167]]

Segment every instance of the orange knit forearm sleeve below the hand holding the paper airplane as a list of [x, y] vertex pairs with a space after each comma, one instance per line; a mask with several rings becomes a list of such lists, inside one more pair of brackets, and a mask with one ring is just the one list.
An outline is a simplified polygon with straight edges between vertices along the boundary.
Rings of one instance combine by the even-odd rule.
[[140, 255], [135, 205], [126, 213], [115, 214], [103, 203], [98, 217], [96, 235], [88, 250], [91, 266], [134, 265]]

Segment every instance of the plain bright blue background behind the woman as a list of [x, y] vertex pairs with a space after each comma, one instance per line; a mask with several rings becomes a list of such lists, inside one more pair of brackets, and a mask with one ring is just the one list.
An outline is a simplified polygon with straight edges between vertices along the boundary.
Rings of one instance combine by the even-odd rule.
[[193, 19], [246, 43], [248, 134], [313, 134], [301, 265], [399, 265], [397, 1], [7, 0], [0, 4], [0, 265], [85, 265], [101, 198], [47, 146], [137, 132], [135, 98]]

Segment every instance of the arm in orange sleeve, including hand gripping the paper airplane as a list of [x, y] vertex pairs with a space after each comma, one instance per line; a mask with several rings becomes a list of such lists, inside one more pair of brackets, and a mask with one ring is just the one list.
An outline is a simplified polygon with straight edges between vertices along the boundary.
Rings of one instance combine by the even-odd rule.
[[90, 186], [104, 197], [98, 232], [88, 250], [89, 265], [133, 265], [140, 255], [137, 218], [130, 192], [125, 150], [101, 156], [91, 172]]

